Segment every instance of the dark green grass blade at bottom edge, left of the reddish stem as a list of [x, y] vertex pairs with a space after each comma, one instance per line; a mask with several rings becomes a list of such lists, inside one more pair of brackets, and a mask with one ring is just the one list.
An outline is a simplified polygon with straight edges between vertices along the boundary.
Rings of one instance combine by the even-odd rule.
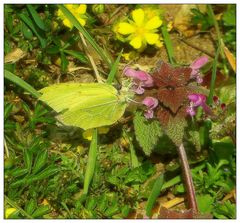
[[157, 197], [159, 196], [159, 194], [161, 192], [163, 183], [164, 183], [164, 175], [161, 174], [156, 179], [156, 181], [155, 181], [155, 183], [153, 185], [151, 194], [150, 194], [150, 196], [148, 198], [147, 205], [146, 205], [146, 214], [147, 214], [147, 216], [151, 215], [151, 211], [152, 211], [153, 205], [154, 205]]

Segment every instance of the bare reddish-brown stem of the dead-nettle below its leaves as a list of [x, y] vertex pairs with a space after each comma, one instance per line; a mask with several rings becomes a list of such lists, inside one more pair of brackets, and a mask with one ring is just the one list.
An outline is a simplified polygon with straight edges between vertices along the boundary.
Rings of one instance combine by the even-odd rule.
[[193, 215], [196, 215], [198, 214], [198, 206], [196, 201], [196, 195], [195, 195], [195, 189], [193, 185], [191, 170], [187, 160], [187, 154], [183, 144], [181, 144], [177, 148], [178, 148], [177, 151], [180, 159], [180, 164], [182, 167], [183, 178], [184, 178], [185, 186], [187, 190], [189, 208], [192, 209]]

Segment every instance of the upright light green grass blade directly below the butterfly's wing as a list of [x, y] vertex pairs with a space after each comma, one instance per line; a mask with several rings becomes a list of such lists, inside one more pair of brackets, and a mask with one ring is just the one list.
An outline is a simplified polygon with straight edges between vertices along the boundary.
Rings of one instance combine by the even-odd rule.
[[87, 169], [84, 177], [84, 185], [83, 185], [83, 193], [87, 194], [89, 185], [92, 181], [93, 175], [94, 175], [94, 169], [96, 165], [97, 160], [97, 149], [98, 149], [98, 140], [97, 140], [97, 129], [93, 130], [93, 136], [92, 141], [88, 153], [88, 163], [87, 163]]

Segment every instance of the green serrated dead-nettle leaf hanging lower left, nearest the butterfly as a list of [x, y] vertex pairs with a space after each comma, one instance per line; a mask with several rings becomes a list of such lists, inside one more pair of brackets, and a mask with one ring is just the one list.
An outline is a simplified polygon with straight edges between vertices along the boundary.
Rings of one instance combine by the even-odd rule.
[[163, 135], [159, 121], [147, 120], [141, 112], [136, 112], [133, 123], [137, 141], [143, 152], [149, 156]]

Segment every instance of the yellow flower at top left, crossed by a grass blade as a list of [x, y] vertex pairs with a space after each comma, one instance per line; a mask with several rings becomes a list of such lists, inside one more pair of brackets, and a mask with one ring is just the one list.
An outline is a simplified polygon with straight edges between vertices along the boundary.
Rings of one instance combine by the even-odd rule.
[[[78, 5], [78, 4], [73, 4], [73, 5], [68, 4], [68, 5], [65, 5], [65, 6], [74, 15], [74, 17], [79, 21], [79, 23], [82, 26], [85, 26], [86, 19], [87, 19], [87, 16], [85, 15], [86, 10], [87, 10], [87, 5], [85, 5], [85, 4], [81, 4], [81, 5]], [[61, 9], [58, 9], [57, 15], [58, 15], [58, 17], [61, 20], [63, 20], [63, 24], [65, 26], [69, 27], [70, 29], [73, 28], [72, 23], [66, 18], [66, 16], [63, 14]]]

